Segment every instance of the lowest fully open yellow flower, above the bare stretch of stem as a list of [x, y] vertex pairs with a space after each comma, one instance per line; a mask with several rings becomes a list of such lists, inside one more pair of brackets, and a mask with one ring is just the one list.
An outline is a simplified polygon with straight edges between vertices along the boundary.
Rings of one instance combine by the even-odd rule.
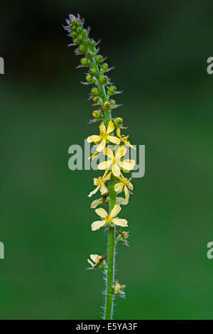
[[93, 222], [92, 231], [99, 230], [100, 227], [103, 227], [104, 225], [107, 225], [107, 224], [115, 224], [115, 225], [122, 226], [122, 227], [128, 226], [126, 219], [115, 218], [116, 215], [118, 215], [120, 211], [121, 211], [121, 207], [120, 205], [117, 205], [117, 204], [114, 205], [114, 208], [111, 210], [109, 215], [107, 211], [102, 208], [96, 209], [95, 212], [97, 213], [97, 215], [99, 215], [100, 217], [104, 219]]

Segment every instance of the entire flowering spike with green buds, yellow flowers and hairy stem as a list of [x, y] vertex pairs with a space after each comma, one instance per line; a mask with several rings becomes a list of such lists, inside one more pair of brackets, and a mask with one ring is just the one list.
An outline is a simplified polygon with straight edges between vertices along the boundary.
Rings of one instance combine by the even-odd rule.
[[[129, 136], [122, 134], [121, 131], [126, 129], [121, 117], [113, 117], [112, 112], [119, 107], [116, 101], [112, 99], [117, 91], [116, 87], [111, 84], [111, 79], [107, 72], [112, 68], [105, 62], [102, 55], [99, 54], [99, 42], [89, 38], [89, 28], [84, 28], [84, 20], [79, 15], [70, 15], [66, 20], [68, 36], [72, 38], [72, 44], [77, 55], [82, 55], [79, 67], [87, 68], [85, 85], [92, 85], [89, 99], [92, 99], [93, 105], [97, 106], [92, 112], [93, 119], [89, 123], [100, 122], [99, 133], [88, 136], [87, 141], [94, 143], [95, 153], [90, 158], [96, 158], [104, 154], [105, 161], [99, 163], [98, 169], [104, 171], [103, 176], [94, 178], [96, 188], [89, 193], [89, 198], [100, 192], [101, 198], [94, 200], [91, 208], [95, 209], [100, 220], [92, 222], [92, 231], [97, 231], [105, 227], [109, 230], [108, 253], [99, 256], [91, 254], [88, 259], [91, 268], [102, 267], [107, 274], [107, 300], [105, 306], [105, 318], [110, 319], [112, 314], [113, 299], [112, 294], [124, 296], [124, 285], [119, 281], [114, 281], [114, 256], [115, 244], [118, 241], [129, 245], [127, 238], [129, 232], [124, 232], [121, 227], [127, 227], [126, 219], [117, 217], [121, 211], [121, 205], [129, 203], [130, 194], [132, 194], [133, 185], [131, 178], [126, 178], [125, 173], [129, 173], [135, 166], [135, 161], [125, 159], [126, 147], [131, 146]], [[133, 146], [131, 146], [133, 147]], [[124, 192], [124, 197], [117, 197]], [[104, 208], [97, 208], [98, 205], [105, 205]], [[116, 226], [119, 226], [117, 239], [115, 240]], [[107, 263], [105, 260], [107, 259]]]

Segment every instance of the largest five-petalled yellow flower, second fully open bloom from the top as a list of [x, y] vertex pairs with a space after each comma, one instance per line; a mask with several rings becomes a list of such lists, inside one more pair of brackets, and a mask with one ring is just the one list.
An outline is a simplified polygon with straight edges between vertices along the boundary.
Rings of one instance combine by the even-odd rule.
[[109, 159], [99, 163], [98, 169], [104, 170], [112, 165], [111, 171], [114, 176], [119, 176], [121, 174], [121, 168], [123, 168], [125, 171], [132, 171], [135, 166], [136, 162], [134, 160], [121, 161], [121, 158], [126, 154], [126, 147], [124, 146], [121, 146], [119, 149], [117, 149], [115, 156], [113, 151], [108, 148], [105, 148], [103, 153], [108, 156]]

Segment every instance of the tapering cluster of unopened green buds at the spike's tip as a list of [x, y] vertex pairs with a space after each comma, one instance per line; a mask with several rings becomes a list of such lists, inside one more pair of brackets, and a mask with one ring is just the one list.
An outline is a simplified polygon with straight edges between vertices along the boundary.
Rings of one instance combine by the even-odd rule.
[[84, 20], [80, 16], [70, 15], [66, 20], [67, 26], [65, 30], [68, 36], [72, 37], [75, 45], [75, 53], [82, 55], [80, 60], [80, 67], [88, 68], [86, 74], [85, 85], [94, 85], [90, 92], [90, 98], [94, 105], [99, 106], [98, 110], [92, 112], [94, 119], [104, 119], [104, 112], [119, 107], [114, 99], [111, 99], [112, 95], [119, 94], [114, 85], [111, 85], [111, 80], [107, 76], [107, 72], [111, 70], [107, 63], [104, 63], [104, 58], [99, 54], [99, 48], [92, 38], [89, 38], [89, 29], [84, 28]]

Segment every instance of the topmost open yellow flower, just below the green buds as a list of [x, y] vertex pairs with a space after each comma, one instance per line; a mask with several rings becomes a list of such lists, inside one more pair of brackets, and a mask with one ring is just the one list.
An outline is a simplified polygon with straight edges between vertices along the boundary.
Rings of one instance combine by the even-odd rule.
[[[111, 141], [111, 143], [119, 145], [120, 139], [116, 136], [110, 136], [111, 132], [114, 130], [114, 124], [113, 122], [109, 121], [108, 128], [106, 130], [106, 126], [104, 125], [104, 122], [102, 122], [99, 126], [100, 134], [99, 136], [89, 136], [87, 138], [88, 143], [94, 142], [94, 144], [97, 145], [97, 152], [102, 152], [107, 144], [107, 140]], [[99, 141], [101, 141], [99, 143]]]

